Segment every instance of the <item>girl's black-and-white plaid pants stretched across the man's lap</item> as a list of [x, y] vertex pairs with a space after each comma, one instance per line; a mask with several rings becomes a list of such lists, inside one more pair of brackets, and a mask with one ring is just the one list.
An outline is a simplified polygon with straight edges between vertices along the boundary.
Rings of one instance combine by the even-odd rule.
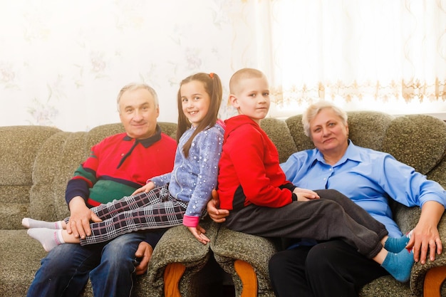
[[187, 204], [170, 195], [168, 184], [148, 193], [142, 192], [100, 204], [91, 208], [91, 211], [103, 222], [90, 223], [92, 234], [81, 239], [81, 245], [109, 241], [134, 231], [180, 225]]

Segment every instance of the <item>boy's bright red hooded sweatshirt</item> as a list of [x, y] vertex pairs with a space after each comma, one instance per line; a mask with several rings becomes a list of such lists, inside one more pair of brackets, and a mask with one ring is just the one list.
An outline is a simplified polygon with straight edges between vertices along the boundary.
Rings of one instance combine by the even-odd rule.
[[225, 123], [217, 189], [220, 208], [283, 207], [296, 200], [295, 186], [286, 180], [279, 152], [264, 130], [246, 115]]

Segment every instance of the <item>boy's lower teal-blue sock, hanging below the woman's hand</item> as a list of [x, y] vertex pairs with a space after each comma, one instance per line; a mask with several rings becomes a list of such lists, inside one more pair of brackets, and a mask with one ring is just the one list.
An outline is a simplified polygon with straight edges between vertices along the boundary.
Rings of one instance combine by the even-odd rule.
[[410, 278], [410, 271], [414, 263], [413, 251], [403, 249], [398, 254], [389, 251], [381, 266], [397, 281], [405, 283]]

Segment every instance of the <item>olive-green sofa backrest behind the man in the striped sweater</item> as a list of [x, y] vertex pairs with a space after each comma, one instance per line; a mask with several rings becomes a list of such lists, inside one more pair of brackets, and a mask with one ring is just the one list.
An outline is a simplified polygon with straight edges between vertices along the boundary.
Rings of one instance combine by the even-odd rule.
[[[175, 123], [160, 123], [175, 138]], [[88, 132], [54, 127], [0, 127], [0, 229], [21, 229], [21, 219], [56, 220], [68, 216], [65, 189], [90, 147], [123, 132], [120, 123]]]

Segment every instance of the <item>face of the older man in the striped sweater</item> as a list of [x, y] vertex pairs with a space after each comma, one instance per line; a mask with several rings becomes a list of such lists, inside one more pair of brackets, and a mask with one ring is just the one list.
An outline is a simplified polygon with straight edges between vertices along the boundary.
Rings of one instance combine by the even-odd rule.
[[144, 89], [128, 90], [119, 100], [119, 118], [127, 135], [135, 139], [145, 139], [155, 134], [160, 109], [155, 106], [155, 98]]

